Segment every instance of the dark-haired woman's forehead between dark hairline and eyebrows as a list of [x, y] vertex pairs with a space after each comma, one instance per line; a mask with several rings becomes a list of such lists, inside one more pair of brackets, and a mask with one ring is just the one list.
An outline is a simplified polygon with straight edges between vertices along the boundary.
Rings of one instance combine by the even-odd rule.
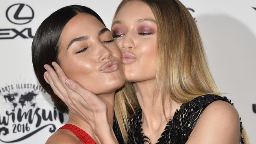
[[78, 13], [63, 28], [60, 36], [61, 45], [67, 45], [70, 40], [84, 35], [97, 36], [103, 28], [105, 26], [93, 15]]

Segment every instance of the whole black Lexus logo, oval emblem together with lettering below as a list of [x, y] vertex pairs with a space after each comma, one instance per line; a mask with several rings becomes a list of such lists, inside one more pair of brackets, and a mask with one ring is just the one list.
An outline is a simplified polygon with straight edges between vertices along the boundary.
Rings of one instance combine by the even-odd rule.
[[[13, 24], [28, 24], [32, 21], [34, 16], [35, 13], [32, 7], [27, 4], [13, 4], [6, 9], [6, 18]], [[23, 28], [23, 30], [17, 30], [15, 28], [0, 29], [0, 40], [15, 39], [16, 37], [23, 39], [33, 38], [32, 28]]]

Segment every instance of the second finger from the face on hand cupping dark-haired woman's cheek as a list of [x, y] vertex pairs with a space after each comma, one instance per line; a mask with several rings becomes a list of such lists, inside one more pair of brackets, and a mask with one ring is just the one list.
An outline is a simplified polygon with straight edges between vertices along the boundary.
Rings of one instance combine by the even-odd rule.
[[[64, 88], [64, 86], [62, 85], [61, 81], [59, 80], [59, 78], [58, 78], [56, 72], [54, 71], [54, 69], [52, 69], [51, 66], [50, 66], [50, 65], [47, 65], [47, 64], [44, 65], [44, 67], [45, 67], [45, 69], [47, 70], [48, 74], [50, 75], [48, 78], [51, 78], [51, 80], [52, 80], [52, 84], [53, 84], [53, 85], [51, 85], [51, 86], [56, 87], [56, 89], [58, 89], [59, 92], [61, 93], [61, 95], [63, 95], [64, 98], [65, 98], [65, 96], [67, 96], [67, 91], [66, 91], [66, 89]], [[49, 80], [50, 80], [50, 79], [48, 79], [48, 81], [49, 81]], [[49, 82], [50, 82], [50, 81], [49, 81]], [[53, 88], [53, 87], [52, 87], [52, 88]]]

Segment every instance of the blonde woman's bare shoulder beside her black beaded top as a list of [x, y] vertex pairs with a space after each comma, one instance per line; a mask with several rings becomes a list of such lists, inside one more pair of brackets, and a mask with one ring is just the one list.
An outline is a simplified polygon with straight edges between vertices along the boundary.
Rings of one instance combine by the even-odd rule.
[[217, 100], [204, 109], [186, 144], [240, 144], [240, 119], [235, 107]]

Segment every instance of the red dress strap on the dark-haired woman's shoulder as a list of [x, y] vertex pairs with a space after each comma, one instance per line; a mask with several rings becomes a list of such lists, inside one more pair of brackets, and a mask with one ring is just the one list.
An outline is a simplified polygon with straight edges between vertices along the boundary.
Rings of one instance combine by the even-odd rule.
[[77, 126], [74, 126], [72, 124], [65, 124], [64, 126], [60, 127], [59, 129], [68, 129], [69, 131], [74, 133], [74, 135], [76, 135], [76, 137], [81, 142], [83, 142], [83, 144], [96, 144], [96, 142], [93, 140], [93, 138], [90, 135], [88, 135], [88, 133], [86, 133], [85, 131], [83, 131], [82, 129], [80, 129]]

